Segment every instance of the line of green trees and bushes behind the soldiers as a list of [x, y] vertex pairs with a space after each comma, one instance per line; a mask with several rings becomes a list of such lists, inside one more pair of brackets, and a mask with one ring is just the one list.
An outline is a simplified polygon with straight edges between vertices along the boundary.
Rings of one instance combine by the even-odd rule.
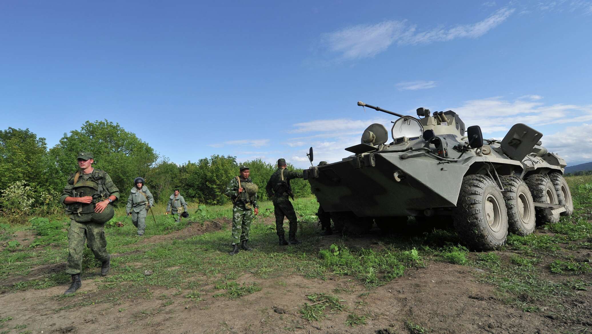
[[[146, 186], [160, 203], [165, 203], [175, 188], [186, 200], [221, 205], [229, 199], [223, 191], [230, 179], [239, 174], [239, 165], [250, 167], [251, 178], [259, 186], [260, 200], [268, 199], [265, 184], [276, 166], [260, 159], [237, 161], [231, 155], [212, 155], [180, 166], [172, 163], [121, 125], [107, 121], [86, 121], [81, 129], [64, 134], [59, 143], [47, 148], [45, 138], [29, 129], [0, 130], [0, 210], [4, 214], [38, 211], [58, 212], [57, 203], [70, 173], [76, 171], [79, 151], [94, 154], [93, 166], [107, 171], [121, 192], [117, 205], [124, 205], [134, 178], [146, 180]], [[288, 164], [288, 168], [294, 170]], [[298, 170], [298, 169], [296, 169]], [[296, 196], [310, 194], [310, 185], [292, 180]]]

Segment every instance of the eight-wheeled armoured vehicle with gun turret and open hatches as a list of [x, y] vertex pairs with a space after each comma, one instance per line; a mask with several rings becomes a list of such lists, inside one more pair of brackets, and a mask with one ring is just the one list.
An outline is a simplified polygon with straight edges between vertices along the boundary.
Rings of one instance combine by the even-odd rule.
[[361, 144], [345, 149], [353, 155], [304, 171], [337, 229], [361, 234], [376, 222], [396, 232], [409, 216], [448, 216], [464, 244], [488, 250], [503, 245], [508, 231], [528, 235], [571, 215], [565, 160], [541, 146], [535, 129], [516, 124], [503, 140], [484, 140], [478, 125], [465, 129], [453, 111], [419, 108], [416, 118], [358, 105], [398, 117], [392, 142], [384, 125], [372, 124]]

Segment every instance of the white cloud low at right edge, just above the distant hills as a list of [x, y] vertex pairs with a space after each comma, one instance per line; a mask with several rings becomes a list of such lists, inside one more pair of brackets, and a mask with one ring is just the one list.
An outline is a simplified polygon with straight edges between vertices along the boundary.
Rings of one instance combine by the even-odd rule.
[[542, 138], [543, 146], [563, 157], [569, 165], [592, 161], [592, 124], [567, 127]]

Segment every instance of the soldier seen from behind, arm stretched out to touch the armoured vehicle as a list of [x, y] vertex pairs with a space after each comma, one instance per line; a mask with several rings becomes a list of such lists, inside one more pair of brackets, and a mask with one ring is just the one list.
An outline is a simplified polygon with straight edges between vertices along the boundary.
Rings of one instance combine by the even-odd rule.
[[279, 159], [278, 170], [269, 178], [265, 190], [269, 198], [274, 202], [275, 229], [278, 233], [279, 245], [288, 245], [284, 234], [284, 217], [287, 217], [290, 222], [289, 244], [300, 244], [301, 241], [296, 239], [296, 230], [298, 229], [296, 213], [288, 196], [292, 194], [290, 180], [301, 178], [303, 175], [302, 172], [286, 170], [285, 168], [286, 160]]

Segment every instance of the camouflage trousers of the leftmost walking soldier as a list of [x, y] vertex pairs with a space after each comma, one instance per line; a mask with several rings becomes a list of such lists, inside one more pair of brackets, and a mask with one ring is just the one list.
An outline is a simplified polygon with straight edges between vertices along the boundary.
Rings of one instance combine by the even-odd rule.
[[66, 273], [70, 275], [81, 273], [85, 242], [87, 247], [95, 254], [96, 260], [101, 262], [109, 260], [104, 225], [102, 223], [78, 223], [74, 219], [70, 220]]

